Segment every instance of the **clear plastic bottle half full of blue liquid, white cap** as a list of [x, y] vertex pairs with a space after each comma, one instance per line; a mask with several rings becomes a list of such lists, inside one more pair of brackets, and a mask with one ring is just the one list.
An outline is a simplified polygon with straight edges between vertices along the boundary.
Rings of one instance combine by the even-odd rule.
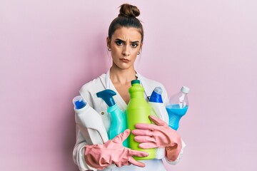
[[186, 115], [188, 110], [189, 88], [182, 86], [181, 91], [171, 96], [169, 104], [166, 106], [168, 112], [168, 126], [173, 130], [178, 130], [179, 120]]

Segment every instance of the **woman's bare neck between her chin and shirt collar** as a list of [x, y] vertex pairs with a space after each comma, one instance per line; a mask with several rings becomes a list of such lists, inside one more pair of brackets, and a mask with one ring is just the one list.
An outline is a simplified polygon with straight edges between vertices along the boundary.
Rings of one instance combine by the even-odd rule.
[[126, 85], [136, 79], [136, 71], [134, 68], [121, 69], [111, 66], [110, 79], [114, 84]]

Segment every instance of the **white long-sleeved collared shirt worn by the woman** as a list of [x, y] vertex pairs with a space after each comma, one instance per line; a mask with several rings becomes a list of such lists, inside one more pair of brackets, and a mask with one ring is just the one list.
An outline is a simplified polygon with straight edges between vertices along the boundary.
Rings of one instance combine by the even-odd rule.
[[[164, 105], [168, 104], [168, 95], [166, 92], [166, 89], [163, 87], [161, 83], [158, 83], [157, 81], [149, 80], [147, 78], [144, 78], [140, 74], [137, 73], [136, 75], [138, 77], [138, 80], [140, 80], [141, 85], [145, 89], [145, 98], [149, 97], [151, 93], [153, 92], [153, 89], [157, 86], [161, 87], [163, 89], [162, 98]], [[127, 104], [121, 98], [121, 95], [119, 95], [118, 91], [114, 87], [113, 83], [111, 83], [109, 71], [105, 74], [102, 74], [99, 76], [99, 78], [94, 79], [93, 81], [90, 81], [89, 83], [86, 83], [84, 86], [82, 86], [80, 93], [86, 100], [86, 103], [89, 104], [94, 110], [96, 110], [99, 115], [101, 115], [101, 118], [104, 122], [104, 126], [106, 130], [108, 131], [110, 128], [110, 116], [109, 113], [107, 113], [108, 106], [104, 102], [104, 100], [101, 100], [101, 98], [96, 97], [96, 93], [98, 93], [101, 90], [104, 89], [111, 89], [116, 92], [116, 95], [114, 95], [114, 100], [116, 104], [119, 106], [121, 110], [126, 110]], [[76, 128], [76, 145], [74, 147], [74, 162], [76, 165], [79, 166], [79, 170], [96, 170], [92, 167], [89, 167], [89, 165], [86, 164], [84, 160], [84, 148], [85, 145], [87, 145], [86, 140], [84, 139], [83, 135], [81, 135], [79, 128]], [[181, 153], [178, 156], [178, 159], [174, 162], [167, 162], [171, 165], [176, 165], [176, 163], [180, 160], [182, 153], [183, 153], [183, 147], [185, 147], [185, 144], [182, 141], [182, 149]], [[165, 155], [163, 154], [163, 157]], [[120, 170], [130, 170], [130, 171], [156, 171], [156, 170], [166, 170], [163, 166], [163, 161], [161, 159], [154, 159], [154, 160], [141, 160], [141, 162], [144, 162], [146, 164], [146, 167], [137, 167], [134, 165], [129, 166], [123, 166], [123, 167], [114, 167], [114, 168], [106, 168], [105, 171], [120, 171]]]

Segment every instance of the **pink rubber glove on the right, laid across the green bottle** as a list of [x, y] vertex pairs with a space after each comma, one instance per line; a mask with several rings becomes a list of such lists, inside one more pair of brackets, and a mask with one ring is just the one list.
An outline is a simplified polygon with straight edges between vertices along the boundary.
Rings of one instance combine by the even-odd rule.
[[136, 130], [132, 130], [135, 135], [134, 140], [140, 142], [138, 147], [155, 148], [165, 147], [166, 157], [169, 161], [175, 161], [181, 151], [181, 137], [176, 130], [168, 127], [167, 123], [154, 116], [149, 118], [155, 123], [153, 124], [136, 124]]

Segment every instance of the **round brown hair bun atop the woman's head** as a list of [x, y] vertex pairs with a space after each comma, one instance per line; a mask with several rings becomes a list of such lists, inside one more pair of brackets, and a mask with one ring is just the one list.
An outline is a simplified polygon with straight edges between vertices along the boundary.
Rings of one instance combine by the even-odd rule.
[[126, 17], [137, 17], [140, 15], [140, 11], [136, 6], [131, 4], [122, 4], [120, 9], [119, 16], [126, 16]]

